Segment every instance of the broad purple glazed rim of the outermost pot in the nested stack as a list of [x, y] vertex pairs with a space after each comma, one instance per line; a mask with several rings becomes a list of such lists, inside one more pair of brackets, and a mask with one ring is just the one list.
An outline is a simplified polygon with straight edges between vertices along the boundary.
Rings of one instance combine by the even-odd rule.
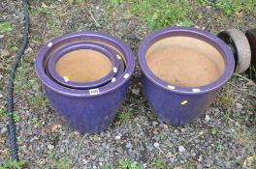
[[[91, 41], [91, 42], [105, 42], [107, 44], [110, 44], [112, 47], [117, 48], [117, 50], [123, 54], [123, 56], [126, 59], [126, 67], [125, 70], [122, 73], [122, 76], [119, 78], [116, 78], [116, 80], [112, 83], [109, 83], [108, 85], [95, 88], [95, 89], [89, 89], [89, 90], [78, 90], [78, 89], [71, 89], [64, 86], [61, 86], [60, 84], [52, 81], [50, 77], [46, 74], [45, 71], [45, 63], [47, 62], [46, 59], [48, 59], [48, 54], [50, 51], [54, 51], [58, 48], [61, 44], [68, 44], [74, 40], [79, 41]], [[76, 41], [75, 41], [76, 42]], [[66, 95], [69, 97], [95, 97], [95, 96], [101, 96], [107, 93], [112, 92], [113, 90], [121, 87], [124, 85], [129, 78], [131, 77], [133, 71], [135, 69], [135, 60], [132, 53], [132, 50], [129, 48], [128, 45], [126, 45], [124, 42], [103, 33], [99, 32], [91, 32], [91, 31], [83, 31], [83, 32], [76, 32], [71, 34], [66, 34], [60, 37], [57, 37], [50, 42], [47, 42], [39, 51], [39, 54], [35, 61], [35, 70], [39, 77], [39, 79], [42, 81], [42, 83], [48, 87], [48, 89], [61, 94]]]

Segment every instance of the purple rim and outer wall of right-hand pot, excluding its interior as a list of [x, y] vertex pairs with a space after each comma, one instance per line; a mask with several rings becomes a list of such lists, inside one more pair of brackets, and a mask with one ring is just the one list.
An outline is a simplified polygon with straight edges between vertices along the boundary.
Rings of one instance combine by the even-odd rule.
[[[215, 47], [224, 60], [225, 69], [221, 76], [200, 87], [177, 86], [158, 78], [146, 63], [146, 51], [154, 42], [175, 36], [195, 38]], [[145, 98], [161, 121], [175, 126], [189, 124], [202, 115], [216, 98], [219, 89], [232, 76], [235, 68], [233, 54], [224, 42], [208, 32], [184, 27], [166, 28], [150, 35], [140, 47], [139, 61], [143, 72]]]

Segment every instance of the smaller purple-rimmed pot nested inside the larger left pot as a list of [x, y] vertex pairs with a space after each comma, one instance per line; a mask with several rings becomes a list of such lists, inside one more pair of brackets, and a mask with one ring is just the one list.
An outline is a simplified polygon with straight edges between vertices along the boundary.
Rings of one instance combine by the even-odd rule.
[[110, 47], [96, 42], [75, 42], [49, 58], [48, 72], [61, 85], [91, 89], [112, 81], [120, 62]]

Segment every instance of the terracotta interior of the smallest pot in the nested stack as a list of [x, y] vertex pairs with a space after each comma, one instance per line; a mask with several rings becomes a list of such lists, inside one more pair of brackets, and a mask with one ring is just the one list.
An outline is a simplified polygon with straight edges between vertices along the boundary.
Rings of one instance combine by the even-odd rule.
[[73, 82], [93, 82], [105, 77], [112, 70], [112, 62], [103, 53], [79, 49], [66, 53], [56, 63], [59, 76]]

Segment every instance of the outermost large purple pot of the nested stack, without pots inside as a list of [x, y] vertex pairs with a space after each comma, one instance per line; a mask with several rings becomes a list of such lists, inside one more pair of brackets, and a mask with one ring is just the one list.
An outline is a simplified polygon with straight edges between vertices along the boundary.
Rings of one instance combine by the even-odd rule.
[[[96, 42], [111, 47], [124, 63], [121, 66], [123, 72], [118, 71], [118, 77], [98, 88], [79, 90], [60, 85], [46, 72], [48, 59], [59, 48], [74, 42]], [[134, 67], [132, 51], [124, 42], [96, 32], [78, 32], [58, 37], [42, 47], [35, 62], [35, 70], [52, 107], [72, 128], [88, 133], [110, 126], [125, 99]]]

